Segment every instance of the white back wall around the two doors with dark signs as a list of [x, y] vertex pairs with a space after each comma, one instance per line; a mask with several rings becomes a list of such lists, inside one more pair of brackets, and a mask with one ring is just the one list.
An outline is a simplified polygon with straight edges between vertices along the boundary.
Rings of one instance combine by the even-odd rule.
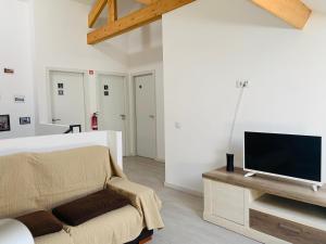
[[[127, 72], [125, 36], [97, 46], [88, 46], [86, 35], [90, 5], [71, 0], [34, 0], [35, 74], [38, 90], [38, 112], [41, 123], [49, 123], [49, 90], [47, 68], [79, 72]], [[96, 76], [86, 75], [86, 113], [97, 112]], [[89, 120], [86, 121], [89, 127]]]

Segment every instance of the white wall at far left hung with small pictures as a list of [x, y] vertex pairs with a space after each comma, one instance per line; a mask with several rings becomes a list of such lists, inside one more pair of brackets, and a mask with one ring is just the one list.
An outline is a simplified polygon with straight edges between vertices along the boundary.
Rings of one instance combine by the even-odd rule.
[[[34, 134], [29, 13], [27, 2], [0, 0], [0, 114], [11, 115], [11, 131], [0, 132], [0, 139]], [[3, 68], [13, 68], [15, 73], [4, 74]], [[25, 95], [25, 103], [14, 103], [14, 95]], [[32, 124], [20, 126], [20, 117], [27, 116]]]

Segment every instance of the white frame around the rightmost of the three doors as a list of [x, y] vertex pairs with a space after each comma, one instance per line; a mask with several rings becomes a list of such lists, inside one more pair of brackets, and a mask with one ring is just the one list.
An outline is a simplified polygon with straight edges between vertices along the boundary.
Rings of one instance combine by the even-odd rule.
[[133, 73], [130, 75], [130, 80], [131, 80], [131, 93], [133, 93], [133, 136], [134, 136], [134, 155], [137, 155], [137, 114], [136, 114], [136, 82], [135, 79], [136, 77], [139, 76], [147, 76], [147, 75], [152, 75], [153, 76], [153, 82], [154, 82], [154, 97], [155, 97], [155, 158], [158, 158], [158, 106], [156, 106], [156, 75], [155, 70], [147, 70], [147, 72], [137, 72]]

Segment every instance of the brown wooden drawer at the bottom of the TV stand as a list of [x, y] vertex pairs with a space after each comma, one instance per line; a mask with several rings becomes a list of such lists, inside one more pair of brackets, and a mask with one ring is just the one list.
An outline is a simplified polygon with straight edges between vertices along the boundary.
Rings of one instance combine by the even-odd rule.
[[326, 232], [250, 209], [250, 228], [293, 244], [325, 244]]

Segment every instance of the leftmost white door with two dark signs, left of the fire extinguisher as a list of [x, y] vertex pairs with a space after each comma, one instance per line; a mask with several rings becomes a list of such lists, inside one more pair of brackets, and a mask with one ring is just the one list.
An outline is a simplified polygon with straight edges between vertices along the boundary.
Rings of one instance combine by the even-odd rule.
[[85, 131], [84, 74], [50, 72], [52, 123], [82, 125]]

